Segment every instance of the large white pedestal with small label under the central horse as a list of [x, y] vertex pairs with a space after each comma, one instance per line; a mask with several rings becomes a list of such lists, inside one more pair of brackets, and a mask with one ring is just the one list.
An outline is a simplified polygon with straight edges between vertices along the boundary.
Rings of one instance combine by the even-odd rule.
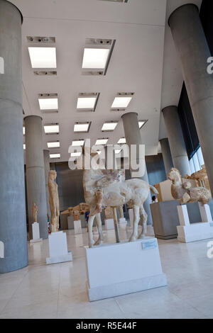
[[153, 237], [84, 249], [90, 301], [167, 285]]

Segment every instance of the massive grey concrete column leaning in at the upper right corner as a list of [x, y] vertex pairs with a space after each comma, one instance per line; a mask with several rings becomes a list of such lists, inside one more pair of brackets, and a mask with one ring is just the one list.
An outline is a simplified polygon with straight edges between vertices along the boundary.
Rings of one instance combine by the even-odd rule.
[[213, 79], [207, 72], [207, 59], [212, 55], [197, 6], [186, 4], [176, 9], [169, 18], [169, 25], [180, 56], [182, 75], [213, 193]]

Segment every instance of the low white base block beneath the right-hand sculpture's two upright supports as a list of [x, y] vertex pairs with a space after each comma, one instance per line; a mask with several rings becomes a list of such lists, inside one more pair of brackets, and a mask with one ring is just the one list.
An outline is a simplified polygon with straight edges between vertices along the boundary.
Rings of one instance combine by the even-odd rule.
[[197, 240], [213, 238], [213, 227], [209, 222], [180, 225], [178, 229], [178, 240], [189, 243]]

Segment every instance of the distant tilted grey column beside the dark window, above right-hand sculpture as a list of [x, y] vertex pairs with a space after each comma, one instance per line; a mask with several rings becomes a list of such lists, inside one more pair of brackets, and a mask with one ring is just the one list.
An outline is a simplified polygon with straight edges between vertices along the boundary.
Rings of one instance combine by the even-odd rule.
[[186, 174], [190, 175], [190, 162], [187, 157], [185, 142], [182, 135], [178, 108], [177, 106], [167, 106], [166, 108], [163, 108], [162, 112], [165, 120], [170, 151], [173, 157], [173, 164], [183, 177]]

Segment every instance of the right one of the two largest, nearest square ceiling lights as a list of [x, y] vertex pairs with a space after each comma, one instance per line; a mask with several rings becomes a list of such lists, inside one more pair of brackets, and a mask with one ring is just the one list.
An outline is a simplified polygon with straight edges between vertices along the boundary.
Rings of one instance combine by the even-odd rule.
[[109, 49], [84, 48], [82, 68], [104, 69], [107, 64]]

